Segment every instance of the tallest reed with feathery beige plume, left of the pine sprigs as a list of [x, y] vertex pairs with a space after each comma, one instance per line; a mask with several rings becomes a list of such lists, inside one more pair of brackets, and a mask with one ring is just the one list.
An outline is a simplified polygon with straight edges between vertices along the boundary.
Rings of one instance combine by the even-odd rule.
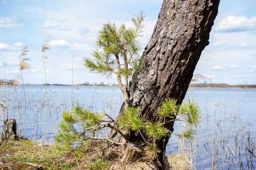
[[[45, 60], [44, 59], [48, 59], [48, 57], [46, 55], [46, 51], [49, 51], [52, 48], [51, 45], [48, 43], [49, 40], [51, 40], [51, 37], [52, 37], [52, 35], [45, 38], [45, 40], [43, 41], [43, 45], [42, 45], [41, 52], [42, 52], [42, 57], [43, 57], [44, 71], [45, 71]], [[45, 71], [45, 143], [46, 143], [46, 125], [47, 125], [46, 110], [47, 110], [47, 79], [46, 79], [46, 71]]]

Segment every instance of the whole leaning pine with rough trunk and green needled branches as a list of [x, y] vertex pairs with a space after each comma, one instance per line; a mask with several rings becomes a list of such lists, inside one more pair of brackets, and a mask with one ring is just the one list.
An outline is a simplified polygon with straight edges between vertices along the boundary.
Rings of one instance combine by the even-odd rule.
[[[78, 104], [63, 113], [56, 141], [77, 147], [103, 139], [117, 145], [122, 161], [135, 161], [152, 151], [150, 158], [159, 170], [163, 169], [174, 121], [185, 117], [189, 126], [198, 123], [197, 106], [190, 102], [181, 104], [202, 50], [209, 44], [219, 2], [164, 0], [153, 35], [141, 56], [138, 38], [143, 29], [142, 13], [132, 20], [134, 28], [103, 24], [96, 41], [99, 49], [92, 53], [95, 60], [84, 58], [85, 66], [102, 75], [116, 74], [124, 104], [116, 120]], [[106, 127], [111, 128], [110, 135], [99, 137]], [[191, 135], [190, 131], [184, 134]]]

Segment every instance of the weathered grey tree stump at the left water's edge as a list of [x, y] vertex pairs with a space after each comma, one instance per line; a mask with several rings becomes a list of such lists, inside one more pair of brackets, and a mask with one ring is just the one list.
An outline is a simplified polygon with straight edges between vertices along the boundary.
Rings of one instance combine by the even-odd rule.
[[17, 139], [17, 125], [15, 119], [5, 119], [3, 122], [3, 131], [1, 140], [6, 141], [10, 139]]

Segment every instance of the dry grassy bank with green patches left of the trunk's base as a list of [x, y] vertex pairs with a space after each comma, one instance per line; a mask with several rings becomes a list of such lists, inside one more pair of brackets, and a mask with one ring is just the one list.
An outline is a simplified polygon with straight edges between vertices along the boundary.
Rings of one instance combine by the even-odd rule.
[[104, 142], [76, 150], [61, 150], [56, 145], [34, 143], [30, 140], [0, 143], [0, 169], [52, 170], [157, 170], [149, 159], [123, 163], [118, 148]]

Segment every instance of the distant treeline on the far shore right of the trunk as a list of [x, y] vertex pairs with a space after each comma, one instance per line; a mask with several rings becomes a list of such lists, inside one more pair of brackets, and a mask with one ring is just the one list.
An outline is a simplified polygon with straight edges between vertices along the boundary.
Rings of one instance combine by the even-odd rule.
[[237, 84], [229, 85], [226, 83], [197, 83], [193, 84], [192, 87], [211, 87], [211, 88], [256, 88], [255, 84]]

